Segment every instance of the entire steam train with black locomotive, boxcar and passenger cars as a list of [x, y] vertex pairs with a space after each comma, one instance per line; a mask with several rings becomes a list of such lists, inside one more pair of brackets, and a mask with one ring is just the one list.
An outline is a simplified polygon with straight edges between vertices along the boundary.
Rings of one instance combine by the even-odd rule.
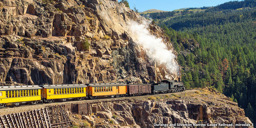
[[163, 80], [155, 84], [60, 84], [60, 85], [28, 85], [1, 86], [0, 107], [8, 103], [15, 105], [37, 104], [43, 102], [96, 99], [101, 97], [124, 97], [143, 94], [182, 92], [183, 82]]

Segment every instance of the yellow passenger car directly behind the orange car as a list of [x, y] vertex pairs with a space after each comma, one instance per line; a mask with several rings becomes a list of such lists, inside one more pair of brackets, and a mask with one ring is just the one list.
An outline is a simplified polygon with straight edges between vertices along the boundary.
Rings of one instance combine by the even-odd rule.
[[66, 101], [84, 100], [86, 96], [86, 85], [84, 84], [61, 84], [61, 85], [40, 85], [42, 87], [42, 100], [54, 102], [54, 100]]

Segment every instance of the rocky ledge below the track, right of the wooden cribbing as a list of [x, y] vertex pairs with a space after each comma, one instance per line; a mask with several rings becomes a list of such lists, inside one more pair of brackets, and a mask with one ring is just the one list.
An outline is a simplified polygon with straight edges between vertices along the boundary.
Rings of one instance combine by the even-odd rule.
[[[152, 100], [154, 98], [155, 100]], [[168, 128], [253, 128], [252, 122], [244, 115], [244, 109], [239, 108], [236, 102], [230, 101], [229, 97], [211, 88], [172, 95], [131, 97], [131, 101], [105, 107], [94, 105], [91, 118], [86, 120], [97, 128], [164, 127], [156, 124], [169, 124]], [[224, 124], [226, 126], [223, 126]]]

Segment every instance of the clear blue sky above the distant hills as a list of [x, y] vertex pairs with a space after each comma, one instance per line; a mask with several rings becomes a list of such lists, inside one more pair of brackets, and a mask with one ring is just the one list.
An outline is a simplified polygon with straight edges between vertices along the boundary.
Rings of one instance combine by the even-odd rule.
[[231, 0], [127, 0], [127, 1], [129, 2], [131, 9], [133, 9], [133, 6], [135, 4], [139, 12], [143, 12], [149, 9], [173, 11], [175, 9], [180, 9], [180, 8], [216, 6], [218, 4], [223, 4]]

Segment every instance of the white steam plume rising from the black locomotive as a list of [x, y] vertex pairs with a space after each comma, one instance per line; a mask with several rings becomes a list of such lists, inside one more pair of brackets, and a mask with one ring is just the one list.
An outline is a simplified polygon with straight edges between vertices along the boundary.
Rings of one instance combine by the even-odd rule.
[[148, 24], [149, 22], [147, 21], [142, 24], [135, 21], [130, 23], [129, 28], [136, 39], [133, 41], [147, 51], [147, 55], [151, 60], [165, 64], [166, 68], [170, 70], [169, 72], [180, 75], [180, 67], [175, 61], [176, 55], [172, 53], [172, 50], [168, 50], [162, 38], [156, 38], [156, 36], [149, 33]]

